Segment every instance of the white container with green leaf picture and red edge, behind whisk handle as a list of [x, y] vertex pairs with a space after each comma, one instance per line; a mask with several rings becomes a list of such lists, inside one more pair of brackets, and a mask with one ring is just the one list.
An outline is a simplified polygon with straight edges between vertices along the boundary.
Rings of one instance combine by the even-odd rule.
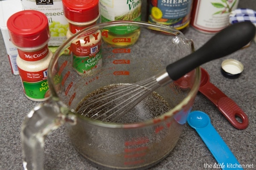
[[191, 26], [203, 33], [216, 33], [229, 25], [230, 12], [239, 0], [194, 0]]

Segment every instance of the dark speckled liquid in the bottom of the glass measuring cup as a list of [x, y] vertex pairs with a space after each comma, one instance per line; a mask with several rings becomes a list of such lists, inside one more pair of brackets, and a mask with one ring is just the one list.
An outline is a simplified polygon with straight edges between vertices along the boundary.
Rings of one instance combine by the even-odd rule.
[[[83, 116], [89, 117], [89, 118], [94, 116], [92, 119], [96, 119], [97, 116], [102, 115], [109, 108], [106, 108], [106, 110], [104, 110], [104, 108], [103, 108], [102, 113], [99, 113], [99, 114], [97, 114], [95, 112], [88, 113], [88, 111], [90, 111], [94, 107], [107, 104], [108, 102], [111, 102], [111, 100], [106, 99], [101, 102], [95, 102], [93, 105], [91, 105], [89, 107], [85, 107], [85, 106], [87, 106], [87, 103], [84, 103], [84, 101], [87, 101], [87, 99], [91, 96], [96, 96], [102, 92], [110, 91], [112, 89], [119, 88], [121, 86], [126, 86], [126, 85], [129, 85], [129, 84], [113, 84], [113, 85], [108, 85], [108, 86], [99, 88], [96, 91], [93, 91], [92, 93], [85, 96], [84, 99], [81, 100], [81, 102], [79, 102], [79, 104], [76, 108], [76, 111], [79, 111], [80, 108], [84, 107], [86, 109], [82, 109], [83, 111], [78, 112], [78, 113]], [[122, 94], [120, 94], [120, 96], [121, 95]], [[111, 102], [111, 104], [113, 104], [113, 102]], [[118, 104], [119, 104], [119, 102], [118, 102]], [[115, 105], [113, 105], [113, 107], [115, 107]], [[147, 121], [150, 119], [157, 118], [158, 116], [162, 115], [163, 113], [166, 113], [170, 109], [171, 108], [170, 108], [168, 102], [166, 102], [166, 100], [163, 99], [162, 96], [160, 96], [156, 92], [153, 92], [152, 94], [147, 96], [145, 99], [143, 99], [139, 104], [137, 104], [133, 109], [131, 109], [131, 111], [129, 111], [127, 114], [125, 114], [125, 116], [120, 118], [116, 123], [126, 124], [126, 123], [144, 122], [144, 121]], [[116, 115], [118, 115], [118, 113]], [[106, 115], [102, 116], [99, 120], [101, 121], [102, 119], [105, 119], [107, 116], [109, 116], [109, 115], [106, 114]], [[111, 121], [111, 119], [107, 120], [106, 122], [108, 122], [108, 121]]]

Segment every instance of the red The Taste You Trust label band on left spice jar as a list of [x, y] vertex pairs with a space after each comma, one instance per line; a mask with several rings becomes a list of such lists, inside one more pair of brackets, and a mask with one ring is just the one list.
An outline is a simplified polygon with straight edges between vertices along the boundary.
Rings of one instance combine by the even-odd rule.
[[29, 72], [19, 69], [20, 78], [25, 82], [40, 82], [47, 79], [47, 69], [38, 72]]

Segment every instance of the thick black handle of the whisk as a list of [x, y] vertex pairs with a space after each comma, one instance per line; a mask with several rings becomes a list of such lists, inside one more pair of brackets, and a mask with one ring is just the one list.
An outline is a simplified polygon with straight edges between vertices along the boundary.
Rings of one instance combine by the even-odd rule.
[[196, 67], [231, 54], [247, 45], [255, 36], [256, 27], [250, 22], [235, 23], [215, 34], [192, 54], [168, 65], [166, 72], [177, 80]]

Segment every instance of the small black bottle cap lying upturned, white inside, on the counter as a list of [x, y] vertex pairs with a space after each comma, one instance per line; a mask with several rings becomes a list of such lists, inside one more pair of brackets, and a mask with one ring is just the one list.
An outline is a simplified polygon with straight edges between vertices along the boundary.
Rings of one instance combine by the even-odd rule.
[[221, 73], [230, 79], [238, 78], [244, 71], [244, 65], [236, 59], [226, 59], [221, 63]]

